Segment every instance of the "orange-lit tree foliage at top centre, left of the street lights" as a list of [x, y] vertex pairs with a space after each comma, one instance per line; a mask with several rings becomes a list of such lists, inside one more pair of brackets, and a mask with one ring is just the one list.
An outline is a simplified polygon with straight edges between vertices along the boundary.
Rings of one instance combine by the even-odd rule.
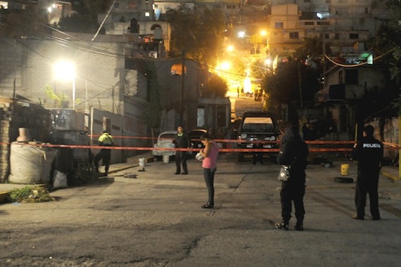
[[179, 57], [185, 51], [188, 58], [205, 65], [215, 65], [222, 52], [225, 29], [220, 9], [205, 9], [200, 17], [193, 8], [181, 5], [167, 11], [165, 18], [172, 27], [171, 57]]

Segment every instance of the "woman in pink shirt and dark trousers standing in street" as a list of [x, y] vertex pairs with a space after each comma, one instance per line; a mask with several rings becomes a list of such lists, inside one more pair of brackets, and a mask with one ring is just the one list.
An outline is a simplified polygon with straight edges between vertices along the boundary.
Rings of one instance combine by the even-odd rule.
[[203, 177], [205, 177], [205, 183], [208, 187], [209, 200], [208, 203], [204, 204], [203, 209], [212, 209], [215, 205], [215, 172], [217, 169], [217, 155], [219, 155], [219, 146], [215, 141], [212, 141], [208, 133], [200, 136], [200, 142], [205, 145], [203, 150], [200, 150], [200, 155], [203, 156], [202, 167]]

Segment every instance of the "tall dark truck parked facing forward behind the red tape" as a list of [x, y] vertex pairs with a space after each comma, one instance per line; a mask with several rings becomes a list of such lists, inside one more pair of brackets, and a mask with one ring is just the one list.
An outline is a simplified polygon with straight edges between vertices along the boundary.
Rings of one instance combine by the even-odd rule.
[[[238, 148], [257, 148], [262, 143], [263, 148], [279, 148], [279, 131], [276, 129], [276, 120], [268, 112], [244, 112], [238, 129]], [[263, 143], [263, 141], [266, 141]], [[270, 142], [269, 142], [270, 141]], [[246, 153], [238, 152], [238, 162], [243, 161]], [[271, 161], [276, 161], [278, 152], [267, 152]]]

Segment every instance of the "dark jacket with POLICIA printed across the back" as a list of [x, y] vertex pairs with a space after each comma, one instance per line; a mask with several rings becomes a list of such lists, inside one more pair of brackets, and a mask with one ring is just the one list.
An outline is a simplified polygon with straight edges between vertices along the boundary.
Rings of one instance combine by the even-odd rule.
[[358, 161], [358, 171], [367, 174], [377, 171], [380, 169], [383, 159], [383, 143], [373, 136], [364, 136], [357, 143], [357, 147], [352, 150], [351, 156], [352, 159]]

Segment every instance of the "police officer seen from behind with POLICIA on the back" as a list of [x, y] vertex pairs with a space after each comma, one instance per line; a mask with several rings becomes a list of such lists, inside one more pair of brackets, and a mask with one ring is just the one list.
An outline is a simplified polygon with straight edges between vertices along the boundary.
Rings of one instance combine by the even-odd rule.
[[357, 188], [355, 204], [357, 214], [352, 219], [363, 220], [367, 193], [369, 193], [370, 213], [373, 220], [380, 220], [378, 212], [378, 174], [383, 159], [383, 143], [373, 137], [374, 127], [364, 126], [364, 136], [354, 145], [352, 159], [358, 161]]

